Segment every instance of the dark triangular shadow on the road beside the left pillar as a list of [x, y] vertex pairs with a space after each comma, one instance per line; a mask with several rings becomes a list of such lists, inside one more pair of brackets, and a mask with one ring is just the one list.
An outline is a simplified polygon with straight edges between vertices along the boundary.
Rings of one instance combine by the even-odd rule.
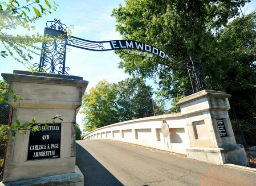
[[123, 186], [97, 159], [76, 143], [76, 164], [84, 174], [85, 186]]

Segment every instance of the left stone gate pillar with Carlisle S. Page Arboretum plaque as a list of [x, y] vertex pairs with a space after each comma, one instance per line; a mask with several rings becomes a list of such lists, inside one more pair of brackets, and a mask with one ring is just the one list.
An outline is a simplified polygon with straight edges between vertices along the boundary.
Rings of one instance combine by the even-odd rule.
[[75, 123], [81, 98], [88, 85], [82, 77], [60, 74], [30, 73], [14, 70], [2, 74], [22, 100], [10, 99], [12, 124], [36, 124], [56, 115], [56, 125], [40, 125], [34, 135], [16, 132], [10, 135], [5, 159], [3, 185], [83, 185], [84, 177], [75, 165]]

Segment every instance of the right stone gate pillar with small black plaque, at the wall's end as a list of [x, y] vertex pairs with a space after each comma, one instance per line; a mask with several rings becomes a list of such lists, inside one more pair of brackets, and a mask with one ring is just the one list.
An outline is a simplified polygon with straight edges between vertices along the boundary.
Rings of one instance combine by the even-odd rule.
[[228, 116], [229, 97], [225, 92], [202, 90], [177, 103], [186, 117], [191, 146], [187, 149], [189, 158], [248, 166], [244, 147], [236, 144]]

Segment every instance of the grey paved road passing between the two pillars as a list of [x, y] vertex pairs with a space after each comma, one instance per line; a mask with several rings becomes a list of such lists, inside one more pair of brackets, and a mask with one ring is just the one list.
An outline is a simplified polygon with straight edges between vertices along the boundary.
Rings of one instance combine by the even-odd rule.
[[256, 186], [256, 173], [112, 140], [77, 141], [85, 186]]

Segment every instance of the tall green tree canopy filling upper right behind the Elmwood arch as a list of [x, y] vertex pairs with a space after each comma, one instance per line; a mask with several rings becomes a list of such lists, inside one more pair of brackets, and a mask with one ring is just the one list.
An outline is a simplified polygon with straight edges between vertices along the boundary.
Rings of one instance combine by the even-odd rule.
[[237, 116], [253, 118], [256, 15], [240, 14], [247, 2], [250, 0], [126, 0], [112, 13], [123, 39], [151, 44], [172, 59], [165, 66], [167, 62], [158, 58], [118, 52], [119, 66], [134, 76], [157, 77], [160, 93], [169, 97], [178, 89], [191, 89], [186, 61], [196, 59], [202, 62], [210, 89], [232, 94]]

